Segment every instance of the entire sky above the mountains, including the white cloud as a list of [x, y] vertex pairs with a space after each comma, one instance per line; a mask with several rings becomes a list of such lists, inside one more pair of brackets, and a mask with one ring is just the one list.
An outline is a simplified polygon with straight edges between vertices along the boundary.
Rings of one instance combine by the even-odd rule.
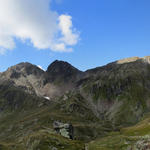
[[149, 0], [0, 0], [0, 72], [54, 60], [84, 71], [148, 55]]

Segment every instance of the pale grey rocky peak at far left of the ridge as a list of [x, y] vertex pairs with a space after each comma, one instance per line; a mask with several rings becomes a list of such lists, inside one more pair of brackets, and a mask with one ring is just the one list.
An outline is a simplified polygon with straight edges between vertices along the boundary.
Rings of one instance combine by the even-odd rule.
[[1, 80], [11, 80], [15, 86], [37, 95], [40, 95], [43, 76], [44, 71], [30, 63], [20, 63], [8, 68], [7, 71], [0, 75]]

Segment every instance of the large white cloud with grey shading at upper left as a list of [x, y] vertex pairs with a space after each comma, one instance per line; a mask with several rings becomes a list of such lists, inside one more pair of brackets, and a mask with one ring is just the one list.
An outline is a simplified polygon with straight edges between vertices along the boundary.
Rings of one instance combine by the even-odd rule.
[[50, 0], [0, 0], [0, 53], [29, 40], [35, 48], [72, 51], [79, 34], [72, 17], [50, 10]]

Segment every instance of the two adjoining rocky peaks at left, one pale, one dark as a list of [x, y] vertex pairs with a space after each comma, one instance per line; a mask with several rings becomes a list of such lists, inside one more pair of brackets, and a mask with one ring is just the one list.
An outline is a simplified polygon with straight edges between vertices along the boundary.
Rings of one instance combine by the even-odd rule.
[[82, 72], [67, 62], [54, 61], [43, 71], [36, 65], [20, 63], [0, 74], [1, 80], [11, 80], [28, 93], [53, 98], [74, 87]]

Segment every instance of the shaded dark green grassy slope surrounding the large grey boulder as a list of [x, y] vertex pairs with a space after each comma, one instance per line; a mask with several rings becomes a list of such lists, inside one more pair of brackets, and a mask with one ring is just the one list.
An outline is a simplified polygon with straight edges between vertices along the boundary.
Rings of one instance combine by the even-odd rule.
[[[0, 85], [0, 148], [2, 150], [83, 150], [84, 142], [108, 132], [80, 95], [49, 102], [27, 94], [10, 82]], [[58, 135], [53, 122], [74, 126], [74, 140]], [[104, 130], [105, 129], [105, 130]]]

